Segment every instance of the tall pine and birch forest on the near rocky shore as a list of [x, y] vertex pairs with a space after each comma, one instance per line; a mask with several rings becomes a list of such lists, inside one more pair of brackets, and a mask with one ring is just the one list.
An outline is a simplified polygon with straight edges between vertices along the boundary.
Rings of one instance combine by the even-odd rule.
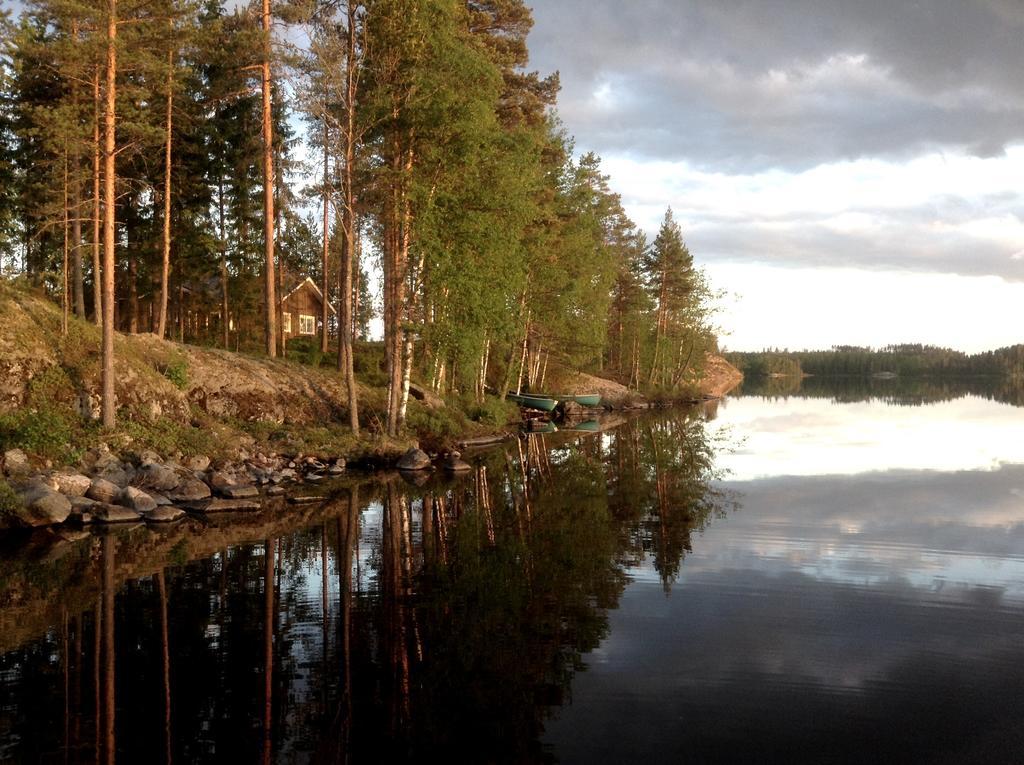
[[522, 0], [0, 17], [0, 265], [102, 328], [103, 426], [115, 332], [287, 355], [281, 298], [307, 277], [354, 431], [355, 354], [380, 326], [388, 435], [414, 379], [478, 401], [549, 365], [692, 384], [713, 290], [671, 209], [648, 242], [560, 124], [531, 26]]

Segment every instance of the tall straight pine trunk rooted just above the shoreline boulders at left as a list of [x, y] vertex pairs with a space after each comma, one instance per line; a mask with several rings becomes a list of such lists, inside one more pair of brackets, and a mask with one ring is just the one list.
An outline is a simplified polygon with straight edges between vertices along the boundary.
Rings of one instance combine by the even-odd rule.
[[[115, 426], [114, 399], [114, 211], [117, 159], [118, 94], [118, 0], [110, 0], [106, 19], [106, 104], [103, 111], [103, 344], [102, 344], [102, 421]], [[113, 661], [113, 657], [112, 660]]]

